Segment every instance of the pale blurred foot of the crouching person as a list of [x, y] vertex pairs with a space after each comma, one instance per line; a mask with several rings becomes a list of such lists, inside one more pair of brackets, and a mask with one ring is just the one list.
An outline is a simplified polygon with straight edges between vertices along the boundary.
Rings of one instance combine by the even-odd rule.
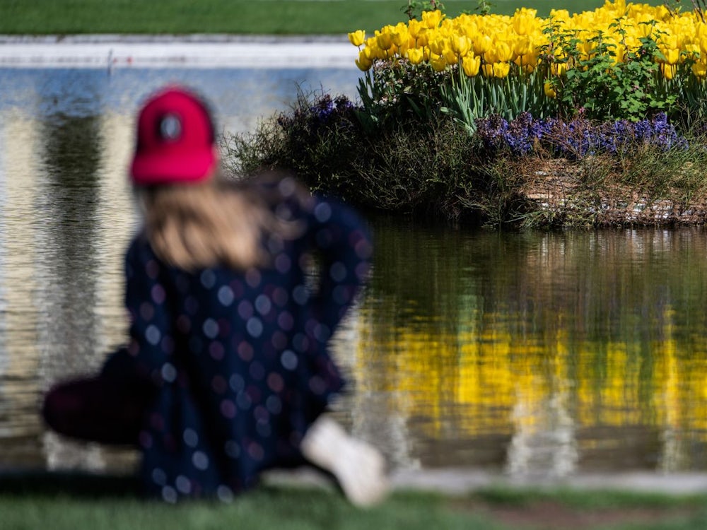
[[385, 460], [378, 449], [349, 436], [334, 420], [317, 419], [300, 449], [312, 464], [334, 474], [352, 504], [368, 507], [387, 494]]

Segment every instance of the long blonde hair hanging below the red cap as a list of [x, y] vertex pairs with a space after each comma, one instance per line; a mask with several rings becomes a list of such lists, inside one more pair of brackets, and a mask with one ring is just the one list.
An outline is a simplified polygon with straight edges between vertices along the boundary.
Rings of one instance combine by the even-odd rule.
[[[249, 182], [221, 177], [197, 184], [140, 189], [145, 230], [155, 253], [168, 264], [185, 270], [226, 265], [245, 270], [269, 264], [268, 237], [291, 239], [300, 232], [296, 221], [276, 214], [277, 201], [303, 189], [293, 179], [267, 175]], [[263, 181], [271, 181], [263, 186]], [[283, 189], [286, 193], [283, 193]]]

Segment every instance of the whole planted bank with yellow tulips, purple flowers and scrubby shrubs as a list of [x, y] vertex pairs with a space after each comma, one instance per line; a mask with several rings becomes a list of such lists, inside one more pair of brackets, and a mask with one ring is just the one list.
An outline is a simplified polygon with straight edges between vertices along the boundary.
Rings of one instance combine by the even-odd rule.
[[699, 4], [406, 13], [349, 33], [356, 102], [301, 94], [226, 139], [233, 172], [284, 167], [361, 207], [491, 225], [707, 218]]

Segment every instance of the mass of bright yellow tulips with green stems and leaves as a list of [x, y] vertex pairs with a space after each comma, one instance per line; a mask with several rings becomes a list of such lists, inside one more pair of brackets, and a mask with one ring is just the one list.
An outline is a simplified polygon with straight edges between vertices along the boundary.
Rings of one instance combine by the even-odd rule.
[[695, 11], [663, 5], [607, 1], [548, 18], [533, 9], [456, 18], [438, 10], [349, 39], [360, 49], [356, 64], [368, 74], [374, 102], [402, 97], [397, 78], [431, 69], [446, 74], [436, 78], [441, 103], [472, 130], [489, 114], [513, 119], [522, 112], [566, 118], [581, 110], [602, 120], [668, 112], [694, 120], [686, 107], [701, 112], [707, 86], [707, 25]]

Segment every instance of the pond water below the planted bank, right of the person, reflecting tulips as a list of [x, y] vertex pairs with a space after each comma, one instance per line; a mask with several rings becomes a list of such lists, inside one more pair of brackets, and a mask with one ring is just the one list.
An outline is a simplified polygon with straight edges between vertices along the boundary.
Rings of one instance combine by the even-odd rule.
[[387, 223], [357, 322], [356, 406], [404, 417], [412, 447], [387, 444], [401, 463], [703, 469], [706, 234]]

